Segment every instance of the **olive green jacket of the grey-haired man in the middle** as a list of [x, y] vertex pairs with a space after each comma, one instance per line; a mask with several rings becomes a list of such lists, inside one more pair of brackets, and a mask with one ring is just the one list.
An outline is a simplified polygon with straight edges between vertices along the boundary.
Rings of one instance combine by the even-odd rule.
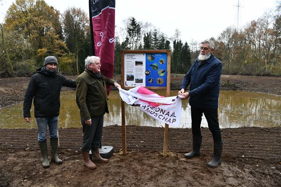
[[85, 69], [76, 81], [76, 99], [81, 118], [85, 121], [108, 113], [106, 84], [114, 86], [115, 80]]

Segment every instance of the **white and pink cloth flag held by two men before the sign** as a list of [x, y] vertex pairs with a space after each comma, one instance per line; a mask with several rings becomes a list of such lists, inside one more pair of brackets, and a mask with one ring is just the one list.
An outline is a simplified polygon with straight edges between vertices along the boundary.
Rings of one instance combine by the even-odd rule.
[[179, 96], [163, 97], [143, 86], [128, 91], [120, 88], [119, 94], [124, 102], [140, 107], [152, 118], [174, 127], [180, 125], [182, 100]]

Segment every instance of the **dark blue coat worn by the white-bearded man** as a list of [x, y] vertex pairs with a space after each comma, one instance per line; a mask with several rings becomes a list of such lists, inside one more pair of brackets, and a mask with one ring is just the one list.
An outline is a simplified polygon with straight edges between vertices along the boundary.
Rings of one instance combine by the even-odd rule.
[[190, 84], [189, 104], [195, 108], [216, 109], [218, 107], [219, 79], [222, 63], [211, 54], [203, 61], [196, 59], [184, 76], [180, 89]]

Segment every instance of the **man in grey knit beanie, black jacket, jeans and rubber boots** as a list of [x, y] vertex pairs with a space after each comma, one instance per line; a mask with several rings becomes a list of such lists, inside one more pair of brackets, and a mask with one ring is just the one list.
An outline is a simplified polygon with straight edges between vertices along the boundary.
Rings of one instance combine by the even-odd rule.
[[50, 166], [47, 151], [47, 126], [49, 126], [52, 162], [62, 164], [58, 157], [58, 124], [60, 114], [60, 93], [62, 86], [76, 87], [76, 81], [57, 72], [58, 60], [54, 56], [45, 58], [44, 66], [37, 69], [28, 84], [24, 95], [23, 116], [30, 122], [30, 108], [33, 99], [34, 116], [38, 127], [38, 142], [43, 157], [44, 168]]

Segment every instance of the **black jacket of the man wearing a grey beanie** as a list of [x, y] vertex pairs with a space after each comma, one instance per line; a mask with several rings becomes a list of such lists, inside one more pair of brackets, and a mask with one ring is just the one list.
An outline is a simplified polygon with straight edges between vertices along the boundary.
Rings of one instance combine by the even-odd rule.
[[44, 68], [37, 69], [37, 73], [31, 77], [24, 95], [24, 118], [31, 117], [30, 108], [33, 98], [35, 118], [59, 116], [62, 86], [75, 88], [76, 81], [57, 72], [49, 73]]

